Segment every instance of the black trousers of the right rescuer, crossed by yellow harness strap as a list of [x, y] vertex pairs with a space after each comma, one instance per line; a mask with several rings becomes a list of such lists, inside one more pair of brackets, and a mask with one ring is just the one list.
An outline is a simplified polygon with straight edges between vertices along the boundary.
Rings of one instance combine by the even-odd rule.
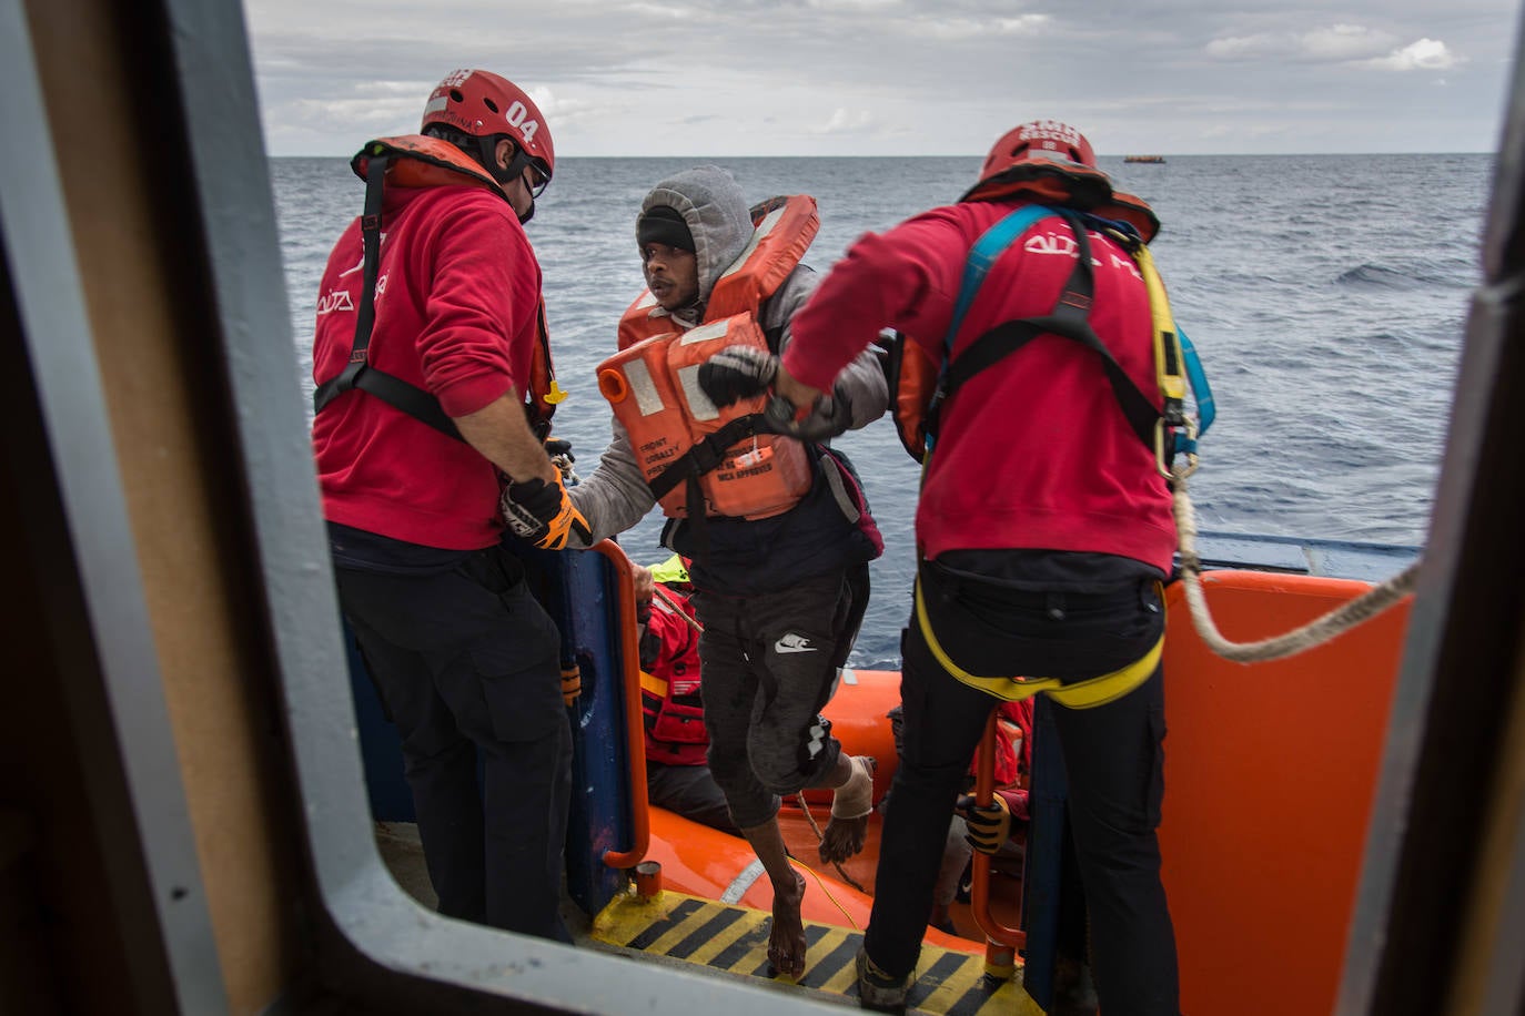
[[[1077, 681], [1109, 673], [1144, 657], [1164, 625], [1157, 597], [1145, 588], [1086, 597], [926, 591], [939, 597], [938, 641], [970, 673]], [[904, 751], [863, 937], [874, 963], [897, 976], [915, 969], [953, 803], [996, 705], [942, 669], [915, 618], [901, 652]], [[1069, 777], [1101, 1011], [1177, 1016], [1176, 938], [1156, 836], [1164, 797], [1164, 672], [1157, 669], [1106, 705], [1055, 705], [1052, 711]]]

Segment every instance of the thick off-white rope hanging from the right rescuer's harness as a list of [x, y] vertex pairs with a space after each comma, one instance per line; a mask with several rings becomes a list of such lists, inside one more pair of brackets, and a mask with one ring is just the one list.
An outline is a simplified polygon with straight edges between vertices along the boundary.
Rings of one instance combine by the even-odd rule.
[[1186, 588], [1186, 606], [1191, 609], [1191, 620], [1197, 626], [1202, 641], [1225, 660], [1234, 663], [1260, 663], [1296, 655], [1371, 620], [1414, 591], [1420, 573], [1418, 561], [1397, 576], [1372, 586], [1354, 600], [1334, 608], [1322, 617], [1308, 621], [1302, 628], [1252, 643], [1229, 641], [1218, 631], [1211, 614], [1208, 614], [1206, 596], [1202, 591], [1202, 558], [1197, 556], [1197, 513], [1191, 506], [1191, 498], [1186, 497], [1188, 475], [1190, 471], [1179, 465], [1171, 475], [1176, 489], [1176, 532], [1180, 536], [1180, 579]]

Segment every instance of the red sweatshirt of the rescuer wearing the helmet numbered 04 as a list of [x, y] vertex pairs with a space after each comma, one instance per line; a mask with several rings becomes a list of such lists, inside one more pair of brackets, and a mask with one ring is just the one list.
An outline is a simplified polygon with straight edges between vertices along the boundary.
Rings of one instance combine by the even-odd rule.
[[[387, 187], [371, 364], [465, 416], [531, 384], [540, 264], [502, 196], [482, 187]], [[355, 337], [360, 221], [339, 238], [317, 294], [313, 376], [336, 376]], [[313, 422], [332, 521], [447, 550], [496, 544], [497, 472], [454, 440], [363, 391]]]

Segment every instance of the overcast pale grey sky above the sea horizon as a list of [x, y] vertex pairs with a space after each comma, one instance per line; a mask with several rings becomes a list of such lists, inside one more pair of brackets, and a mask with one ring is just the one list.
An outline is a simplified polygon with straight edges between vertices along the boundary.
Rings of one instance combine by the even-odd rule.
[[1516, 0], [246, 0], [273, 155], [418, 129], [456, 67], [557, 155], [1488, 152]]

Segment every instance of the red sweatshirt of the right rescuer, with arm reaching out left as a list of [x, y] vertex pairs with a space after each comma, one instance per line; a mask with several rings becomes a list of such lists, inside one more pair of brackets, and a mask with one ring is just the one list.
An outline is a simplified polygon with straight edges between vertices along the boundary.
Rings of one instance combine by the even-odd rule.
[[[784, 367], [830, 390], [881, 327], [942, 356], [970, 247], [1020, 201], [967, 201], [865, 235], [795, 315]], [[1142, 277], [1127, 251], [1090, 233], [1090, 324], [1159, 404]], [[1058, 218], [1031, 225], [991, 267], [955, 337], [955, 352], [993, 326], [1052, 311], [1075, 264]], [[973, 376], [944, 405], [917, 507], [920, 553], [1017, 548], [1096, 551], [1170, 573], [1176, 526], [1154, 457], [1128, 427], [1101, 358], [1042, 335]]]

